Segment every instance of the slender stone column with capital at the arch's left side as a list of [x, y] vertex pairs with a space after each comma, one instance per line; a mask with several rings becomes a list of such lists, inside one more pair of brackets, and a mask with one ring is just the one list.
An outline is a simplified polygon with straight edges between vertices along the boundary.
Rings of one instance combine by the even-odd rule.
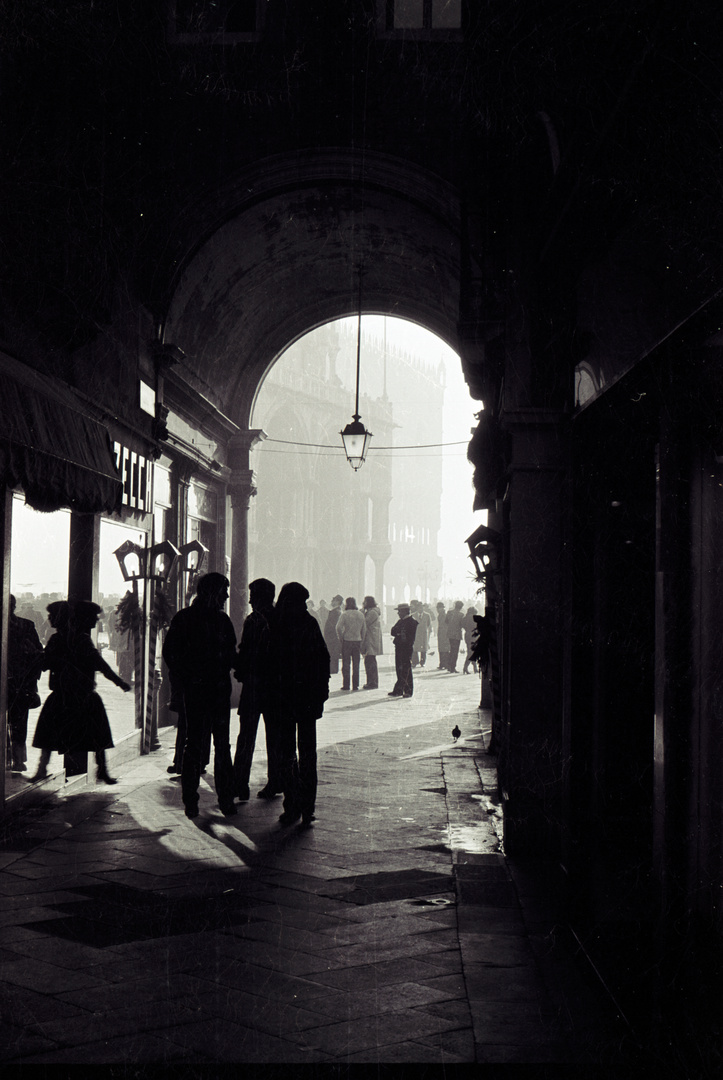
[[241, 633], [249, 603], [249, 507], [256, 495], [256, 477], [251, 468], [252, 447], [266, 438], [260, 428], [232, 435], [228, 444], [233, 521], [231, 525], [230, 616], [237, 637]]

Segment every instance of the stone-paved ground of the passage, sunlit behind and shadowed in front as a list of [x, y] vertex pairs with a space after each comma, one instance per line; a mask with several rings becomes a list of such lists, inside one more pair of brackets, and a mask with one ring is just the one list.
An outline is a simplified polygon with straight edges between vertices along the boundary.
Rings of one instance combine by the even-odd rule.
[[335, 689], [310, 829], [253, 797], [263, 731], [233, 819], [210, 775], [184, 816], [171, 747], [112, 789], [49, 788], [0, 847], [3, 1064], [583, 1061], [534, 879], [521, 906], [501, 853], [478, 701], [431, 671], [403, 703]]

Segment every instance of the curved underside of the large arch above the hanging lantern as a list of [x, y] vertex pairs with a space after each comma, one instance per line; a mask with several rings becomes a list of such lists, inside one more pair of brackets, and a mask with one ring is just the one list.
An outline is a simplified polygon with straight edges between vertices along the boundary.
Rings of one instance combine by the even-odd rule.
[[358, 313], [360, 268], [363, 313], [412, 320], [456, 348], [455, 200], [446, 190], [440, 198], [441, 181], [415, 185], [401, 166], [392, 186], [384, 164], [384, 183], [360, 186], [349, 170], [346, 177], [317, 175], [317, 163], [314, 175], [295, 183], [283, 174], [284, 183], [265, 192], [249, 187], [253, 198], [227, 211], [185, 261], [164, 337], [237, 423], [247, 424], [256, 388], [285, 348]]

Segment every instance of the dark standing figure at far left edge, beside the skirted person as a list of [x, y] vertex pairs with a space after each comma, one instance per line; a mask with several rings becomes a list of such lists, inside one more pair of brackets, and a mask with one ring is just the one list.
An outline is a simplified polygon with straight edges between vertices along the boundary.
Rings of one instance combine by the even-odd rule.
[[8, 625], [8, 726], [13, 772], [27, 768], [28, 711], [40, 704], [38, 678], [42, 645], [30, 619], [15, 615], [15, 597], [10, 597]]

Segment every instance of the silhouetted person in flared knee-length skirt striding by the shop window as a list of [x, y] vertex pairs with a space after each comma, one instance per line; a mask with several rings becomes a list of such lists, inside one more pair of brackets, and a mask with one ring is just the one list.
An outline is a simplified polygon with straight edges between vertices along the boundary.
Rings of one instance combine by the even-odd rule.
[[117, 783], [106, 765], [106, 750], [113, 745], [113, 740], [105, 705], [95, 691], [95, 674], [99, 672], [125, 693], [131, 685], [106, 663], [91, 640], [91, 631], [102, 611], [92, 600], [49, 605], [51, 625], [56, 632], [45, 646], [43, 667], [50, 669], [52, 692], [38, 717], [32, 740], [32, 745], [41, 751], [34, 783], [48, 775], [54, 750], [59, 754], [94, 751], [97, 779], [106, 784]]

